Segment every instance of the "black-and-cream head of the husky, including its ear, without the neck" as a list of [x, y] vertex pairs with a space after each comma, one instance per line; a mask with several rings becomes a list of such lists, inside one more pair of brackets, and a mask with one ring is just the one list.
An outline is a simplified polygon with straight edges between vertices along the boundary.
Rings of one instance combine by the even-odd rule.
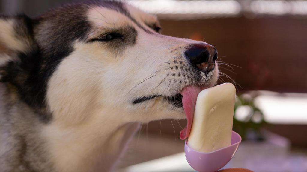
[[1, 79], [47, 122], [185, 118], [181, 91], [211, 87], [219, 73], [213, 46], [161, 35], [155, 16], [122, 2], [0, 23]]

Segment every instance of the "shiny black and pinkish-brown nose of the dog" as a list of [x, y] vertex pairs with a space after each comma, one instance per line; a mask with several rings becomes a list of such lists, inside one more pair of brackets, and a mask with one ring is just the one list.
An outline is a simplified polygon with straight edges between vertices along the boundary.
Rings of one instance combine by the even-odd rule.
[[215, 68], [217, 50], [209, 44], [193, 44], [185, 51], [185, 55], [206, 75]]

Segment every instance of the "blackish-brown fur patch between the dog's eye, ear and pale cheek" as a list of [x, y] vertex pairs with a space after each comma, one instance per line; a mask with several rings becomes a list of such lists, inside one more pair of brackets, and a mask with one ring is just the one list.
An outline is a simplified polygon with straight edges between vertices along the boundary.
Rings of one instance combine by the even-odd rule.
[[25, 15], [14, 17], [16, 37], [28, 39], [31, 49], [17, 52], [19, 60], [4, 67], [2, 81], [13, 84], [20, 98], [37, 109], [45, 122], [51, 120], [45, 111], [48, 80], [73, 51], [72, 43], [85, 40], [91, 27], [85, 16], [87, 8], [84, 4], [61, 7], [33, 20]]

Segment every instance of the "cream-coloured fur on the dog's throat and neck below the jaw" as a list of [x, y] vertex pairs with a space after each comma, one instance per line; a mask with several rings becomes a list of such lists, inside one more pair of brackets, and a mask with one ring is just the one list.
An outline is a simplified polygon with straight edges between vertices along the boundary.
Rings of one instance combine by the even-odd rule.
[[139, 126], [116, 121], [76, 127], [51, 124], [44, 135], [57, 171], [110, 171]]

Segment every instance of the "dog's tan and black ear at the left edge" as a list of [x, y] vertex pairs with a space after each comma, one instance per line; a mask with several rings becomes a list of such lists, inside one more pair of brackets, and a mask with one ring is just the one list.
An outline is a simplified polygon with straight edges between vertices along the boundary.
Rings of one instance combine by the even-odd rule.
[[18, 54], [26, 54], [32, 46], [33, 29], [29, 17], [0, 16], [0, 67], [18, 61]]

